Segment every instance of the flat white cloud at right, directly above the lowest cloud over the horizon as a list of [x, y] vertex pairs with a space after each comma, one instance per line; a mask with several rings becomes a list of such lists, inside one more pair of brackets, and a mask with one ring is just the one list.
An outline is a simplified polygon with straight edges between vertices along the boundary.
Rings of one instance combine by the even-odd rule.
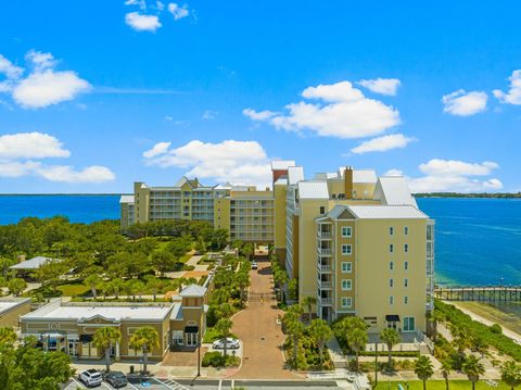
[[466, 163], [458, 160], [433, 159], [419, 166], [420, 171], [431, 176], [486, 176], [498, 165], [492, 161]]

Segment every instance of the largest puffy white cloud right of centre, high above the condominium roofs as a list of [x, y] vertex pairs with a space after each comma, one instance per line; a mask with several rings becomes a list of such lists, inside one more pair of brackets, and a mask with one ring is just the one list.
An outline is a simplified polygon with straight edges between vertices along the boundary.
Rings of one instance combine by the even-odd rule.
[[265, 121], [276, 128], [302, 133], [310, 130], [322, 137], [363, 138], [380, 135], [399, 124], [399, 113], [379, 100], [368, 99], [350, 81], [306, 88], [302, 96], [319, 103], [300, 101], [287, 105], [287, 115], [270, 111], [243, 113]]

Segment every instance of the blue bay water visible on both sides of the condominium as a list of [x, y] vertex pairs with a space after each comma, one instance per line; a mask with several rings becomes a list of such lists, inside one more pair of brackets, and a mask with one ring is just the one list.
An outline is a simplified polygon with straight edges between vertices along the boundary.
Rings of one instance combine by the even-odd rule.
[[[1, 196], [0, 225], [24, 216], [72, 222], [119, 218], [119, 196]], [[521, 200], [420, 198], [436, 219], [436, 280], [521, 285]]]

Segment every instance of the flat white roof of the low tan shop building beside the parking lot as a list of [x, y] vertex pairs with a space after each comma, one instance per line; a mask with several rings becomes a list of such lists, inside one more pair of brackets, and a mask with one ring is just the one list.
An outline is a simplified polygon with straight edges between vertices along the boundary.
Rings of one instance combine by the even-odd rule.
[[[51, 303], [52, 304], [52, 303]], [[45, 309], [46, 306], [41, 307]], [[125, 306], [125, 305], [55, 305], [51, 310], [37, 310], [25, 314], [23, 319], [49, 318], [88, 320], [92, 317], [120, 322], [122, 319], [163, 319], [170, 312], [171, 305], [163, 306]]]

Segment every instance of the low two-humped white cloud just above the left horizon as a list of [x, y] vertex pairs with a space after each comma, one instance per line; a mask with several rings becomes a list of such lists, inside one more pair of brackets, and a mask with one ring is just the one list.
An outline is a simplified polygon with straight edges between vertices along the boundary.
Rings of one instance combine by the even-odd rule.
[[112, 181], [116, 178], [114, 173], [105, 166], [89, 166], [76, 171], [68, 165], [41, 166], [36, 173], [50, 181], [89, 184]]

